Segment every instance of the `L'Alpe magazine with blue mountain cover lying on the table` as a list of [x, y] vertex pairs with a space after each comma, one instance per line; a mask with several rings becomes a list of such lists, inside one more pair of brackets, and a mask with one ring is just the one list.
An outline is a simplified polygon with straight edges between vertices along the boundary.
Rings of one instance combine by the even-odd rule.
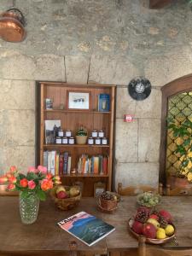
[[87, 212], [79, 212], [57, 223], [61, 229], [83, 241], [89, 247], [103, 237], [108, 236], [115, 228], [113, 225], [96, 218]]

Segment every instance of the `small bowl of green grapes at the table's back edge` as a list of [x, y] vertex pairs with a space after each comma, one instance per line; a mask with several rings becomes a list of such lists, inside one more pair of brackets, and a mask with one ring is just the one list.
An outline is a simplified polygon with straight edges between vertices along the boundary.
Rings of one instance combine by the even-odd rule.
[[144, 207], [155, 207], [160, 203], [160, 195], [148, 191], [137, 195], [137, 203]]

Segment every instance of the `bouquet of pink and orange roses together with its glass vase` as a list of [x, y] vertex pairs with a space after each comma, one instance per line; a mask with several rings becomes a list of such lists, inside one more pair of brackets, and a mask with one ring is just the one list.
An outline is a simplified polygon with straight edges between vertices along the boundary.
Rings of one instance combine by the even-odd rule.
[[60, 177], [47, 172], [44, 166], [30, 166], [26, 174], [11, 166], [9, 172], [0, 177], [0, 184], [7, 184], [7, 190], [20, 192], [20, 217], [25, 224], [37, 219], [39, 200], [45, 201], [46, 192], [60, 183]]

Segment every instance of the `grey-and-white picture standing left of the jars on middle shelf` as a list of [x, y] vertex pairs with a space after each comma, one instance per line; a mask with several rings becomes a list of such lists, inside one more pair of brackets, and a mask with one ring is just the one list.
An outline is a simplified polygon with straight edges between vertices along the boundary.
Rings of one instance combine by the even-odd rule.
[[45, 144], [55, 143], [59, 129], [61, 129], [61, 120], [44, 120]]

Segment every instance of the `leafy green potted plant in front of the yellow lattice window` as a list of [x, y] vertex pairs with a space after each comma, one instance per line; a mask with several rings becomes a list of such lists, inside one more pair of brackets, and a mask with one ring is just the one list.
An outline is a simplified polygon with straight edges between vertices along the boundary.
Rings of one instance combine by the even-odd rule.
[[167, 128], [172, 132], [175, 143], [172, 154], [180, 161], [175, 177], [168, 177], [168, 181], [171, 187], [188, 186], [192, 182], [192, 122], [189, 119], [183, 122], [172, 119], [168, 121]]

